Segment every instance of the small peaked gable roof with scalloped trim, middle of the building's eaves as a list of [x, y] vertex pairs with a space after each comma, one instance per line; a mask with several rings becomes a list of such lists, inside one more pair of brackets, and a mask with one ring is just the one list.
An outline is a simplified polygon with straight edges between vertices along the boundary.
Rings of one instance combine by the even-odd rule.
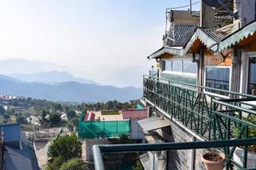
[[197, 28], [194, 35], [190, 38], [189, 42], [184, 47], [184, 52], [195, 52], [201, 48], [200, 45], [197, 45], [195, 49], [193, 46], [195, 43], [200, 41], [201, 45], [206, 46], [207, 48], [212, 48], [214, 44], [221, 42], [226, 35], [222, 31], [216, 31], [214, 29], [205, 29], [205, 28]]

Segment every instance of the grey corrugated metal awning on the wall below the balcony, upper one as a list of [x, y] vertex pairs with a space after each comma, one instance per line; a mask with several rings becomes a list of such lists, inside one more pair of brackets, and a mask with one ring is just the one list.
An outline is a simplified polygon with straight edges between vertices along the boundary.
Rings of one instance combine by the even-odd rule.
[[148, 133], [150, 131], [171, 126], [171, 123], [162, 119], [158, 116], [150, 116], [146, 119], [138, 121], [139, 125], [143, 128], [144, 133]]

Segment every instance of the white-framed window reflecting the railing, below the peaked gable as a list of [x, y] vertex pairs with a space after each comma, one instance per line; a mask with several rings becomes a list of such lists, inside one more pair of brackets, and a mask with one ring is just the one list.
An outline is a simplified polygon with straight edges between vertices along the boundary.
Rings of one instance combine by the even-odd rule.
[[[222, 90], [230, 90], [230, 68], [224, 67], [206, 67], [206, 86]], [[212, 93], [228, 95], [224, 92], [207, 90]]]

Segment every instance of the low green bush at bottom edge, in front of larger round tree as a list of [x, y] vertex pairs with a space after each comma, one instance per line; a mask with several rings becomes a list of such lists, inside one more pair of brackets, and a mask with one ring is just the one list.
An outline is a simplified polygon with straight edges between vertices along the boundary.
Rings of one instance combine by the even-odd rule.
[[86, 170], [88, 169], [80, 158], [73, 158], [64, 162], [60, 170]]

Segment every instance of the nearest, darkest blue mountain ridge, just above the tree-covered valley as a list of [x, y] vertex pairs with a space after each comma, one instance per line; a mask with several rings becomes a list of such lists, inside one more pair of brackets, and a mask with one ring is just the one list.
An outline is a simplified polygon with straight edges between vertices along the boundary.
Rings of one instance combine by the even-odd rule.
[[70, 102], [98, 102], [117, 99], [129, 101], [142, 97], [142, 88], [116, 88], [79, 82], [45, 84], [19, 82], [11, 77], [0, 76], [0, 94], [11, 94], [35, 99]]

